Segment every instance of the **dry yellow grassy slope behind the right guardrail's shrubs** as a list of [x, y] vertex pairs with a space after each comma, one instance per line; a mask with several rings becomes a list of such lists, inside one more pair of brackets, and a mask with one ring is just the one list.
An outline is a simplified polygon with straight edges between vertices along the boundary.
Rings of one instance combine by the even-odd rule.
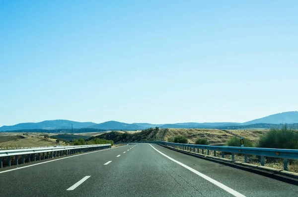
[[233, 136], [243, 136], [256, 142], [259, 137], [269, 130], [217, 130], [217, 129], [169, 129], [165, 135], [165, 140], [176, 135], [185, 136], [190, 143], [194, 143], [197, 138], [208, 139], [210, 144], [225, 143]]

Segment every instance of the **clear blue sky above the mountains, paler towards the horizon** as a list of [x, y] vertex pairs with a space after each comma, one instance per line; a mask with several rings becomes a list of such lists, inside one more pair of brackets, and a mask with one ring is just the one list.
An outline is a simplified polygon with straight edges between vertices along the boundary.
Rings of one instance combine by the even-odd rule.
[[0, 0], [0, 126], [298, 111], [297, 0]]

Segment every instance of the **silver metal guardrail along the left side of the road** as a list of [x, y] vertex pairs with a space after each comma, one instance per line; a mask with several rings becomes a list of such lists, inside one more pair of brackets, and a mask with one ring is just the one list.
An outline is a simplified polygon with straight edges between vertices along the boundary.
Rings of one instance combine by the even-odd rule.
[[[57, 146], [57, 147], [39, 147], [26, 149], [9, 149], [0, 150], [0, 168], [3, 167], [2, 158], [7, 157], [7, 166], [11, 166], [11, 156], [14, 156], [14, 165], [18, 165], [18, 156], [21, 155], [21, 163], [25, 163], [25, 155], [27, 163], [31, 161], [45, 160], [62, 155], [72, 155], [80, 152], [94, 151], [104, 148], [110, 148], [111, 144], [96, 144], [96, 145], [80, 145], [80, 146]], [[36, 155], [37, 154], [37, 155]], [[41, 157], [42, 156], [42, 157]], [[37, 157], [37, 159], [36, 159]]]

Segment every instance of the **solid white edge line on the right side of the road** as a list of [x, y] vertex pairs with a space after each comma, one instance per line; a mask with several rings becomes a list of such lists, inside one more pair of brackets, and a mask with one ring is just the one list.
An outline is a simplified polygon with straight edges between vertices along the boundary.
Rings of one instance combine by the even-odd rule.
[[159, 152], [160, 154], [162, 154], [163, 156], [165, 156], [166, 158], [168, 158], [168, 159], [170, 159], [170, 160], [176, 162], [177, 164], [183, 166], [184, 168], [186, 168], [186, 169], [192, 171], [193, 173], [199, 175], [199, 176], [202, 177], [203, 179], [206, 179], [207, 181], [213, 183], [214, 185], [216, 185], [216, 186], [222, 188], [223, 190], [225, 190], [226, 192], [230, 193], [231, 195], [233, 195], [233, 196], [235, 196], [235, 197], [245, 197], [244, 195], [242, 195], [242, 194], [240, 194], [240, 193], [234, 191], [233, 189], [231, 189], [231, 188], [225, 186], [224, 184], [222, 184], [222, 183], [220, 183], [220, 182], [218, 182], [218, 181], [216, 181], [216, 180], [214, 180], [214, 179], [212, 179], [212, 178], [210, 178], [210, 177], [208, 177], [208, 176], [206, 176], [206, 175], [204, 175], [204, 174], [202, 174], [202, 173], [196, 171], [195, 169], [193, 169], [193, 168], [191, 168], [191, 167], [189, 167], [189, 166], [187, 166], [187, 165], [185, 165], [185, 164], [183, 164], [183, 163], [181, 163], [181, 162], [179, 162], [179, 161], [177, 161], [177, 160], [175, 160], [175, 159], [173, 159], [173, 158], [167, 156], [166, 154], [163, 154], [162, 152], [160, 152], [159, 150], [157, 150], [156, 148], [154, 148], [151, 144], [149, 144], [149, 145], [150, 145], [154, 150], [156, 150], [157, 152]]

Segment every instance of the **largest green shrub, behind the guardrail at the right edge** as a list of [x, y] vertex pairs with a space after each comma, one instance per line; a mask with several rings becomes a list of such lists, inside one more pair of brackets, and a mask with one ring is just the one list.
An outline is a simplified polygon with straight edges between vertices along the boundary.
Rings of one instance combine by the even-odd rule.
[[298, 149], [298, 132], [291, 130], [287, 125], [281, 130], [271, 129], [261, 136], [257, 146], [260, 148]]

